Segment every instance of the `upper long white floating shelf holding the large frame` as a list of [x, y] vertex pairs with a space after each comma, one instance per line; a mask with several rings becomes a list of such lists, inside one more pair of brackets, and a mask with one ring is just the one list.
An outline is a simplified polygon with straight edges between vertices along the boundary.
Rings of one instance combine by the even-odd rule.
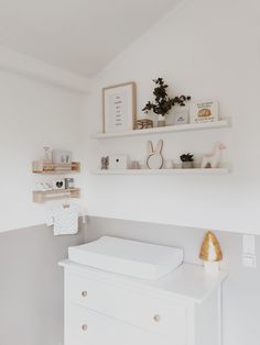
[[151, 134], [161, 134], [161, 133], [172, 133], [172, 132], [184, 132], [184, 131], [197, 131], [197, 130], [209, 130], [209, 129], [219, 129], [227, 127], [228, 120], [220, 120], [216, 122], [208, 123], [189, 123], [189, 124], [180, 124], [180, 125], [169, 125], [164, 127], [153, 127], [147, 130], [132, 130], [132, 131], [121, 131], [121, 132], [111, 132], [111, 133], [98, 133], [93, 136], [96, 140], [111, 138], [111, 137], [123, 137], [123, 136], [138, 136], [138, 135], [151, 135]]

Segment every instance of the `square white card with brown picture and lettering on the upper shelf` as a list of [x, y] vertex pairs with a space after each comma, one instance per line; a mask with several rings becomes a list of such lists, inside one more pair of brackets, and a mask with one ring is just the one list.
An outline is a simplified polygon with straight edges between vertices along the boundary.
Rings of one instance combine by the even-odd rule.
[[218, 102], [212, 100], [191, 102], [191, 123], [206, 123], [218, 121]]

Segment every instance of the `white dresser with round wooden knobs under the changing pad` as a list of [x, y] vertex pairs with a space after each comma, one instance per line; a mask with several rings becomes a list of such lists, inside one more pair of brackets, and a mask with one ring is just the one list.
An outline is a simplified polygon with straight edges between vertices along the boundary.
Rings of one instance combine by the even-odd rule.
[[220, 345], [221, 282], [196, 265], [156, 281], [71, 260], [64, 267], [65, 345]]

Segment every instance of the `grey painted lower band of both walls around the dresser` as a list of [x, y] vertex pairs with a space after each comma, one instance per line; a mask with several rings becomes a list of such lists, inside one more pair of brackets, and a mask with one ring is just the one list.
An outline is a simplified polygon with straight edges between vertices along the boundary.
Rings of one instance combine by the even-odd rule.
[[[89, 218], [87, 229], [74, 236], [54, 237], [46, 226], [0, 234], [0, 345], [63, 344], [63, 271], [57, 261], [69, 245], [113, 235], [182, 246], [185, 261], [197, 258], [203, 230]], [[259, 345], [260, 266], [241, 265], [242, 236], [216, 232], [223, 247], [224, 345]], [[260, 236], [257, 258], [260, 257]], [[137, 344], [138, 345], [138, 344]]]

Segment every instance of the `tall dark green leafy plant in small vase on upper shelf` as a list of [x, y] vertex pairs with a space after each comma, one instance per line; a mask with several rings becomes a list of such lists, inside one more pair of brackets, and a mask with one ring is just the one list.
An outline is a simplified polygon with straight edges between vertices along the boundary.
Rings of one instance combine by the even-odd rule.
[[165, 115], [175, 105], [185, 107], [185, 101], [191, 100], [189, 96], [180, 96], [170, 98], [167, 96], [167, 85], [164, 82], [163, 78], [153, 79], [155, 88], [153, 90], [154, 101], [148, 101], [142, 111], [148, 113], [152, 110], [158, 115], [158, 126], [165, 125]]

